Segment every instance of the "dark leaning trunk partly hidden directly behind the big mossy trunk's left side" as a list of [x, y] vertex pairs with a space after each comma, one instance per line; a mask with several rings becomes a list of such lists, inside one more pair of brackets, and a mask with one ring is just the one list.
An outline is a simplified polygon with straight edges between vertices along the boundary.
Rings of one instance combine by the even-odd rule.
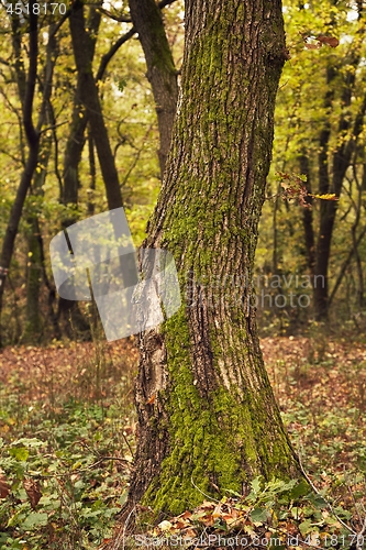
[[129, 0], [134, 28], [144, 50], [147, 78], [152, 85], [160, 150], [162, 178], [170, 148], [171, 131], [178, 100], [177, 70], [165, 34], [162, 12], [155, 0]]

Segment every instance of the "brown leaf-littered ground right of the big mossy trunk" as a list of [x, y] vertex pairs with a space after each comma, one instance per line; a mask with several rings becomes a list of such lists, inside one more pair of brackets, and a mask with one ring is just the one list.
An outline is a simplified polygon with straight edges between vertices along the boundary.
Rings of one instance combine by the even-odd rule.
[[265, 339], [263, 349], [306, 472], [357, 516], [366, 505], [366, 343], [290, 337]]

